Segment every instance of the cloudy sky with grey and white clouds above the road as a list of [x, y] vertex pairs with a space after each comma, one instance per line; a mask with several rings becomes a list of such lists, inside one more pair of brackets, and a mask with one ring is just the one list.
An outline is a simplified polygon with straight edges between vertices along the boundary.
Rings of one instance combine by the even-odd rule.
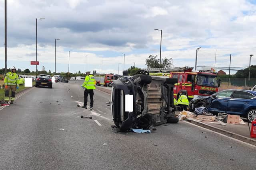
[[[172, 58], [174, 66], [248, 66], [256, 55], [255, 0], [7, 0], [8, 68], [38, 66], [54, 71], [118, 73], [131, 65], [145, 68], [149, 55]], [[0, 1], [0, 67], [4, 67], [4, 0]], [[252, 57], [256, 65], [256, 56]]]

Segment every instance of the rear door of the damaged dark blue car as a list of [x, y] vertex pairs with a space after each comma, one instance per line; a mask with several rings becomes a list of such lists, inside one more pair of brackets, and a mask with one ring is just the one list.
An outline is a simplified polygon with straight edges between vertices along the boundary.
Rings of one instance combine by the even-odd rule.
[[227, 113], [242, 115], [244, 110], [246, 110], [248, 106], [252, 104], [252, 98], [255, 98], [255, 96], [249, 92], [239, 90], [235, 91], [228, 102]]

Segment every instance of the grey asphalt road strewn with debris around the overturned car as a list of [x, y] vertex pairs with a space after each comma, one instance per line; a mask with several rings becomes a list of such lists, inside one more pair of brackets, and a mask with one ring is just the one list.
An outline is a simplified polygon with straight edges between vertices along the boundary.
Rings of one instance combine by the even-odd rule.
[[255, 147], [186, 122], [116, 133], [110, 95], [94, 90], [93, 111], [82, 109], [80, 84], [31, 88], [0, 108], [0, 169], [255, 169]]

